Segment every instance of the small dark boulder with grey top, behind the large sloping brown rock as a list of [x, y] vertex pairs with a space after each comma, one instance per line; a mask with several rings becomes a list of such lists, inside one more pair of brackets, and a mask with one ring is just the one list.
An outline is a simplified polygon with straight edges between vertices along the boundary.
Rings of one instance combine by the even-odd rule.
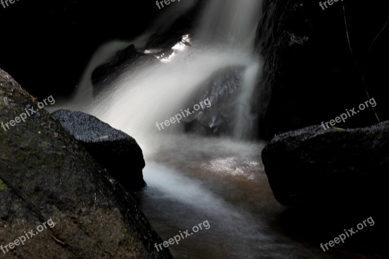
[[134, 138], [83, 112], [58, 110], [52, 116], [127, 190], [145, 187], [143, 154]]

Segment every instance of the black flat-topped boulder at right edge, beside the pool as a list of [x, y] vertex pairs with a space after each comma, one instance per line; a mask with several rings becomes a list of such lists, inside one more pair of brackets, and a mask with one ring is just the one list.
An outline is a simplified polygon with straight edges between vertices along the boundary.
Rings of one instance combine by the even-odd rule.
[[382, 204], [388, 197], [388, 125], [310, 126], [274, 137], [262, 160], [275, 198], [283, 205]]

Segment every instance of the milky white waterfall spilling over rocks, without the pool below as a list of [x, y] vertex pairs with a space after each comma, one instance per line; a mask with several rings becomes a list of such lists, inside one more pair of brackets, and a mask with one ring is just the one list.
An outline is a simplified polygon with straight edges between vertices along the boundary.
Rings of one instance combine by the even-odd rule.
[[[158, 56], [160, 63], [128, 69], [120, 79], [106, 87], [104, 94], [92, 97], [90, 75], [112, 53], [134, 44], [138, 51], [144, 46], [153, 30], [161, 24], [172, 24], [178, 14], [193, 7], [196, 0], [176, 2], [157, 18], [155, 25], [133, 42], [113, 41], [102, 46], [92, 57], [71, 102], [58, 108], [82, 110], [95, 115], [137, 140], [159, 133], [156, 122], [168, 120], [181, 109], [186, 109], [201, 84], [220, 69], [241, 66], [245, 68], [241, 83], [239, 109], [235, 114], [234, 136], [251, 134], [247, 122], [250, 114], [253, 89], [261, 70], [259, 58], [253, 54], [257, 24], [261, 14], [260, 0], [211, 0], [204, 6], [198, 19], [197, 35], [183, 35], [183, 40], [194, 47], [176, 46], [169, 56]], [[170, 8], [170, 6], [169, 6]], [[172, 12], [175, 11], [175, 15]], [[177, 14], [178, 13], [178, 14]], [[182, 123], [165, 132], [182, 132]]]

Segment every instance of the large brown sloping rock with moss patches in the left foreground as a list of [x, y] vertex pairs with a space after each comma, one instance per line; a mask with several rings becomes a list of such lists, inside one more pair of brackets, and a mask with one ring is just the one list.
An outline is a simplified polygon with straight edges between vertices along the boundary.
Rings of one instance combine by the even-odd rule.
[[[0, 122], [37, 103], [0, 70]], [[24, 245], [19, 258], [172, 258], [133, 197], [112, 179], [50, 114], [0, 128], [0, 244], [52, 219]], [[0, 252], [2, 255], [3, 252]]]

